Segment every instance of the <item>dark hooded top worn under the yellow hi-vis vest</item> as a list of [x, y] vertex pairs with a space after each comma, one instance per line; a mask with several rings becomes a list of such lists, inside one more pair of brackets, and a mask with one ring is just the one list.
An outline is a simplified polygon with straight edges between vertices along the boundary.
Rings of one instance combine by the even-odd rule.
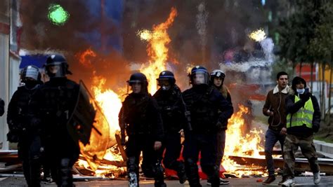
[[[296, 113], [297, 111], [299, 111], [299, 109], [301, 109], [301, 107], [304, 106], [304, 104], [307, 101], [306, 97], [304, 97], [306, 95], [306, 93], [299, 95], [296, 92], [297, 83], [303, 83], [304, 88], [306, 88], [306, 81], [303, 78], [296, 76], [292, 80], [292, 89], [289, 90], [289, 95], [286, 99], [287, 114]], [[299, 137], [309, 137], [313, 134], [313, 132], [318, 132], [319, 127], [320, 127], [320, 108], [319, 108], [318, 100], [315, 98], [314, 95], [312, 95], [310, 93], [308, 93], [308, 94], [310, 95], [310, 98], [312, 99], [313, 109], [314, 109], [313, 120], [312, 120], [312, 125], [313, 125], [312, 129], [306, 127], [306, 125], [304, 124], [303, 126], [287, 128], [287, 134], [293, 134], [293, 135], [299, 136]], [[298, 95], [300, 97], [300, 100], [296, 103], [294, 102], [295, 95]]]

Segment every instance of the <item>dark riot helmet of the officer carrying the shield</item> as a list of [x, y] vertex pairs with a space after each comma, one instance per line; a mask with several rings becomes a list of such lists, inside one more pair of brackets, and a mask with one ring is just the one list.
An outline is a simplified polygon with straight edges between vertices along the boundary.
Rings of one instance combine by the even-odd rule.
[[65, 77], [66, 74], [72, 74], [68, 70], [69, 65], [63, 55], [51, 55], [47, 58], [45, 64], [45, 73], [51, 77]]

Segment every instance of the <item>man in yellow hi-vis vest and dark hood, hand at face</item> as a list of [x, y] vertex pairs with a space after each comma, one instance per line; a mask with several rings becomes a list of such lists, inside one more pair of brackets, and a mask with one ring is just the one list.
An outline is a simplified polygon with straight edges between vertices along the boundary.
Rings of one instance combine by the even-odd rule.
[[320, 109], [317, 99], [306, 88], [306, 81], [296, 76], [292, 80], [292, 89], [286, 99], [287, 137], [285, 138], [285, 166], [282, 186], [294, 184], [295, 152], [301, 147], [301, 152], [308, 159], [313, 172], [313, 182], [320, 182], [320, 168], [317, 153], [313, 144], [313, 132], [320, 127]]

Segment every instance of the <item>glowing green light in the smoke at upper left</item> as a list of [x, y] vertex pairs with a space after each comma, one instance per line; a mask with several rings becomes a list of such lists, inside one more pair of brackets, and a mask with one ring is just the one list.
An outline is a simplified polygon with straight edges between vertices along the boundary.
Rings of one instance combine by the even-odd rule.
[[70, 18], [70, 13], [65, 11], [65, 9], [58, 4], [51, 4], [48, 7], [48, 20], [50, 20], [54, 25], [64, 25]]

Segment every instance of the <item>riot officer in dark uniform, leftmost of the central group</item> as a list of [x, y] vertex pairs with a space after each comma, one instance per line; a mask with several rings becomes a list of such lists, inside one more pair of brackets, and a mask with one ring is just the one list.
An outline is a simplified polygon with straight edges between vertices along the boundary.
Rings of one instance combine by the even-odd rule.
[[[127, 82], [132, 92], [124, 100], [119, 113], [119, 124], [121, 128], [126, 128], [129, 137], [126, 142], [129, 186], [139, 185], [138, 164], [141, 151], [143, 165], [152, 168], [155, 186], [166, 186], [158, 153], [162, 146], [163, 124], [157, 102], [148, 93], [148, 81], [144, 74], [132, 74]], [[145, 173], [145, 169], [141, 167]]]

